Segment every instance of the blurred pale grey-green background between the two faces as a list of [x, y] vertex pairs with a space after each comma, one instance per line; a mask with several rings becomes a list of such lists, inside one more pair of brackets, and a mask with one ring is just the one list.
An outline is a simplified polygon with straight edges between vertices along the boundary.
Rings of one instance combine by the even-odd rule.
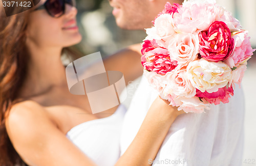
[[85, 54], [96, 51], [109, 56], [125, 46], [141, 43], [144, 31], [121, 30], [107, 0], [77, 0], [77, 21], [83, 36], [77, 48]]

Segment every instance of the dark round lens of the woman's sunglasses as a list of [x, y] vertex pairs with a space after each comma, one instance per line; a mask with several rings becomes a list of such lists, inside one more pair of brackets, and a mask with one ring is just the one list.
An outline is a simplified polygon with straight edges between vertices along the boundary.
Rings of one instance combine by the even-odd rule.
[[63, 0], [50, 0], [47, 1], [45, 7], [49, 14], [53, 17], [59, 17], [64, 13], [64, 1]]

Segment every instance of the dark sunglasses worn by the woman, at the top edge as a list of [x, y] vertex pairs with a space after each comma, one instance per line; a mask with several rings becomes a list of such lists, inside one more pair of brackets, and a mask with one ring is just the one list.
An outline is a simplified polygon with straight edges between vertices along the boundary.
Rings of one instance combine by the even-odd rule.
[[35, 10], [46, 9], [50, 16], [57, 18], [65, 13], [65, 4], [76, 7], [75, 0], [47, 0]]

